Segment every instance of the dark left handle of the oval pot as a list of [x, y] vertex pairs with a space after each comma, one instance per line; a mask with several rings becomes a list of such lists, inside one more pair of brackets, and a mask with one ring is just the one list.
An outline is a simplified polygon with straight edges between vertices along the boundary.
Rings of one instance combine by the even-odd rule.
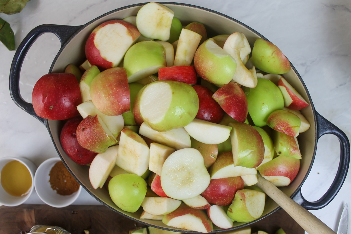
[[44, 33], [53, 33], [55, 34], [61, 42], [61, 48], [66, 43], [66, 41], [76, 32], [81, 26], [66, 26], [66, 25], [39, 25], [32, 29], [31, 32], [23, 39], [21, 44], [18, 46], [15, 55], [12, 60], [10, 76], [9, 76], [9, 85], [10, 85], [10, 95], [12, 100], [19, 106], [22, 110], [26, 111], [28, 114], [37, 118], [45, 126], [45, 119], [39, 117], [35, 114], [32, 103], [26, 102], [20, 94], [20, 72], [25, 56], [33, 45], [34, 41], [39, 38], [40, 35]]

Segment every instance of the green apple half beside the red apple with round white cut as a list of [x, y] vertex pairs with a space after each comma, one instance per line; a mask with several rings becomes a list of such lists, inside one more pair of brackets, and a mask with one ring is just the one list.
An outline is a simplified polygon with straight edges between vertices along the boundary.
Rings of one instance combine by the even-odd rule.
[[166, 67], [165, 47], [155, 41], [140, 41], [132, 45], [123, 60], [128, 82], [135, 82], [158, 72]]

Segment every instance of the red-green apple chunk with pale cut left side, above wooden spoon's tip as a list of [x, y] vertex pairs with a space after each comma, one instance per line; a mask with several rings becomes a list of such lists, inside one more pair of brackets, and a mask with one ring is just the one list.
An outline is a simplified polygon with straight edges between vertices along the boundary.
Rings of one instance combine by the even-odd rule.
[[264, 143], [259, 132], [246, 123], [232, 122], [230, 140], [235, 166], [255, 168], [264, 158]]

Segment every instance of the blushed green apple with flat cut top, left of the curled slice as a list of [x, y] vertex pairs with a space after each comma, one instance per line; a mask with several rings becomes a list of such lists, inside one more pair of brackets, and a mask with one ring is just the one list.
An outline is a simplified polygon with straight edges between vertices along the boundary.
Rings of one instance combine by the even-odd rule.
[[217, 86], [223, 86], [232, 80], [237, 63], [216, 44], [214, 39], [210, 38], [197, 49], [194, 66], [201, 78]]

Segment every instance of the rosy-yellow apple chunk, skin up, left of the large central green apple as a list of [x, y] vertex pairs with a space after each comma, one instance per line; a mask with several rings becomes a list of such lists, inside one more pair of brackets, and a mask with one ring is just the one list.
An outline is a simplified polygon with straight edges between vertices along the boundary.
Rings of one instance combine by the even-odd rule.
[[129, 111], [131, 98], [126, 70], [114, 67], [100, 72], [91, 82], [90, 96], [95, 107], [105, 115]]

